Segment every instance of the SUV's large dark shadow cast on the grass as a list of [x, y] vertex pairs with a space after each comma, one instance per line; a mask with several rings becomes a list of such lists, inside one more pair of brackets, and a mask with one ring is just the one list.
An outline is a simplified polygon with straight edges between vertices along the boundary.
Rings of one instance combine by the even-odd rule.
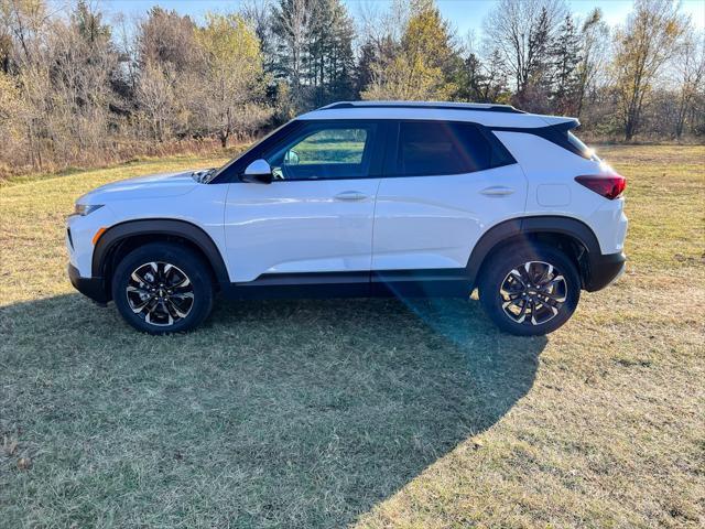
[[79, 526], [344, 526], [500, 420], [546, 344], [459, 300], [220, 303], [166, 337], [75, 294], [0, 311], [15, 494]]

